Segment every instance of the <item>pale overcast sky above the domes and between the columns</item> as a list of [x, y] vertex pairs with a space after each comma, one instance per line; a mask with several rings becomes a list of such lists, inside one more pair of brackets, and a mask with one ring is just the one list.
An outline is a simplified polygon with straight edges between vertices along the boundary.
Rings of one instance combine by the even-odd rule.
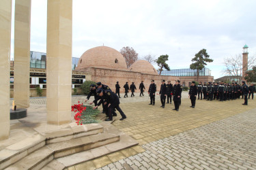
[[[32, 0], [33, 51], [46, 52], [46, 17], [47, 1]], [[241, 54], [244, 44], [256, 54], [255, 18], [255, 0], [73, 0], [72, 56], [103, 44], [130, 46], [140, 57], [168, 54], [171, 69], [186, 69], [205, 48], [214, 59], [206, 67], [219, 78], [223, 59]]]

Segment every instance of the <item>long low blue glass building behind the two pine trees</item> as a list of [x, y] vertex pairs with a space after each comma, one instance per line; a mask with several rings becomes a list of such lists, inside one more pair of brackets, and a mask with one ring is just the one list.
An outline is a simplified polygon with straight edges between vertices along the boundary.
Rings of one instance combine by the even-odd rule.
[[[158, 71], [158, 74], [160, 71]], [[170, 71], [163, 70], [161, 75], [172, 75], [172, 76], [197, 76], [197, 70], [196, 69], [172, 69]], [[208, 68], [203, 68], [202, 70], [199, 70], [199, 76], [208, 76], [211, 75], [211, 71]]]

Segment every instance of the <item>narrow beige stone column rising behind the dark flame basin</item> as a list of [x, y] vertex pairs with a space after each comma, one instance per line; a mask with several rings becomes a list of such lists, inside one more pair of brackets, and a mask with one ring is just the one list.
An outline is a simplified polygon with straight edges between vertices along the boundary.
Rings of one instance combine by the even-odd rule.
[[15, 1], [14, 101], [17, 108], [29, 107], [31, 0]]

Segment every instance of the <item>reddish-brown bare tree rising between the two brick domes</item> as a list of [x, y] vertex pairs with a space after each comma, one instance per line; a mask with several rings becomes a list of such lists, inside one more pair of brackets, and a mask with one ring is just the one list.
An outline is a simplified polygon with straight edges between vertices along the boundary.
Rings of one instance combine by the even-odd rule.
[[131, 47], [123, 47], [120, 53], [126, 59], [127, 68], [129, 68], [135, 61], [138, 60], [138, 53]]

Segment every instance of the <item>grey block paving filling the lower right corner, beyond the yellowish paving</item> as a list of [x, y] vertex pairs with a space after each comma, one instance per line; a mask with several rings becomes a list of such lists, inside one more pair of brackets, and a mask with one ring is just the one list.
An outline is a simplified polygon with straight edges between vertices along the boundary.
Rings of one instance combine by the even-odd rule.
[[256, 109], [143, 145], [100, 169], [256, 169]]

